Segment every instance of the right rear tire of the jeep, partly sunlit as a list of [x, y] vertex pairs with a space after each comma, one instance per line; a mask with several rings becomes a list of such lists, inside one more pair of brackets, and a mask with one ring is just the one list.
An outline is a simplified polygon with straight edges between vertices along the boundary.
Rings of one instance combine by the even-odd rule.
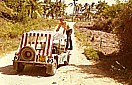
[[46, 73], [50, 76], [55, 75], [57, 70], [57, 62], [56, 60], [54, 60], [54, 62], [51, 65], [48, 65], [47, 69], [46, 69]]

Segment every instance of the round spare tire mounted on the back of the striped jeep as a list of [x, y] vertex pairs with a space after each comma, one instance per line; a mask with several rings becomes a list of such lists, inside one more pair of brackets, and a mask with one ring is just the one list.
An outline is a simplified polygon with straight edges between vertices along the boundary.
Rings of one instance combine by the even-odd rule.
[[20, 60], [33, 61], [35, 59], [35, 50], [32, 47], [23, 47], [20, 51]]

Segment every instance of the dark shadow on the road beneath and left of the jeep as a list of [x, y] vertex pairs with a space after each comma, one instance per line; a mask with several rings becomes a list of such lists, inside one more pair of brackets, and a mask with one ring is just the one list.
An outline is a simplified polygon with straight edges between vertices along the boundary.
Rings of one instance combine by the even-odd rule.
[[49, 77], [49, 75], [46, 74], [46, 68], [36, 67], [36, 66], [25, 66], [23, 72], [17, 73], [15, 70], [13, 70], [12, 65], [8, 65], [5, 67], [0, 67], [0, 72], [6, 75], [19, 75], [19, 76], [26, 75], [26, 76], [32, 76], [32, 77]]

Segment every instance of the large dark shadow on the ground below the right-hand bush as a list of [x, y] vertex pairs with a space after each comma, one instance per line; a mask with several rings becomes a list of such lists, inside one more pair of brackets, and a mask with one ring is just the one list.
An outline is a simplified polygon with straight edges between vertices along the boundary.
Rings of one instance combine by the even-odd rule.
[[132, 71], [118, 64], [119, 56], [113, 57], [113, 55], [115, 54], [104, 56], [93, 65], [72, 66], [80, 68], [82, 73], [94, 74], [97, 78], [109, 77], [123, 85], [132, 85]]

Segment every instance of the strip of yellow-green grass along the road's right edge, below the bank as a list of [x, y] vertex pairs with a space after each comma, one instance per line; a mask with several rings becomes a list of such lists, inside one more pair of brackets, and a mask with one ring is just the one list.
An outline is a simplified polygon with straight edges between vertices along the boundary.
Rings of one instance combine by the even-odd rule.
[[[81, 24], [76, 23], [75, 27], [76, 25], [81, 25]], [[76, 27], [75, 36], [77, 40], [79, 41], [78, 42], [79, 45], [84, 48], [84, 55], [86, 56], [88, 60], [97, 61], [105, 57], [105, 55], [101, 51], [97, 50], [91, 44], [92, 35], [88, 31], [84, 30], [83, 28]]]

